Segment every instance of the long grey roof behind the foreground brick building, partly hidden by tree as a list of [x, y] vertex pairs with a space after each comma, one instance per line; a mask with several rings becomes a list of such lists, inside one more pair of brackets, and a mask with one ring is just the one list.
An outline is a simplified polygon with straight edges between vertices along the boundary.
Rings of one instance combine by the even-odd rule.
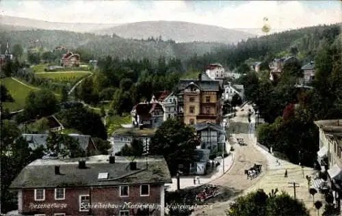
[[[70, 137], [74, 137], [79, 141], [79, 146], [83, 150], [87, 150], [89, 141], [91, 139], [90, 135], [79, 135], [79, 134], [68, 134]], [[36, 149], [38, 146], [47, 147], [47, 137], [48, 134], [27, 134], [23, 133], [21, 135], [26, 141], [29, 142], [29, 148], [32, 150]]]

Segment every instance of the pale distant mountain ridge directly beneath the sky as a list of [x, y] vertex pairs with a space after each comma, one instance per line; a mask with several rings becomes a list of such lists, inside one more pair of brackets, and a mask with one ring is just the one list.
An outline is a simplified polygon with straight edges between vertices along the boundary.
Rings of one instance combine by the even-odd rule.
[[147, 39], [151, 36], [178, 42], [223, 42], [236, 43], [257, 35], [246, 31], [226, 29], [214, 25], [183, 21], [142, 21], [136, 23], [57, 23], [16, 16], [0, 16], [1, 25], [12, 25], [13, 31], [20, 29], [47, 29], [116, 35], [128, 39]]

